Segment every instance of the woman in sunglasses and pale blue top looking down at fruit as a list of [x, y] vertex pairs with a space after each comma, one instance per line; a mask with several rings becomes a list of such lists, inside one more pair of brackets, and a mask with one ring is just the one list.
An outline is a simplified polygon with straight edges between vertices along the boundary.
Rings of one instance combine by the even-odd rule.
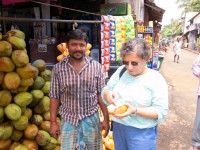
[[158, 71], [147, 68], [151, 52], [144, 39], [126, 41], [120, 54], [124, 65], [101, 94], [107, 105], [121, 102], [128, 107], [112, 117], [115, 150], [156, 150], [157, 125], [168, 112], [167, 83]]

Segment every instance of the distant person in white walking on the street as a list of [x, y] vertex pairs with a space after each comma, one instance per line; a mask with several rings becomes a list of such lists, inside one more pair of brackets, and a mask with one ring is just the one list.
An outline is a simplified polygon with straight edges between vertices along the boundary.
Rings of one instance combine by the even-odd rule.
[[174, 43], [174, 46], [173, 46], [174, 62], [179, 63], [181, 47], [182, 47], [181, 37], [177, 37], [177, 41]]

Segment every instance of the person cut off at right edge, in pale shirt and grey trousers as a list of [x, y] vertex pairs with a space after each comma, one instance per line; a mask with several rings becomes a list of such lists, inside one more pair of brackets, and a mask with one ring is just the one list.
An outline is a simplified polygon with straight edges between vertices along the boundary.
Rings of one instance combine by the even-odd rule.
[[[192, 65], [192, 72], [197, 78], [200, 79], [200, 54], [194, 60], [194, 63]], [[197, 95], [196, 117], [194, 120], [192, 133], [192, 146], [189, 150], [200, 150], [200, 82]]]

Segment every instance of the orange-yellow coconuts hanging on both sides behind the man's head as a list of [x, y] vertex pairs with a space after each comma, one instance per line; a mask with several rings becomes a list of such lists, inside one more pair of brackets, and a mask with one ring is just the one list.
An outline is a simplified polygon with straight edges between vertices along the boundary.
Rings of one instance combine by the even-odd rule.
[[[91, 48], [92, 48], [92, 45], [90, 43], [87, 43], [87, 50], [85, 52], [86, 56], [90, 55], [90, 49]], [[57, 49], [61, 52], [61, 54], [57, 56], [57, 61], [61, 61], [63, 58], [65, 58], [69, 55], [66, 43], [58, 44]]]

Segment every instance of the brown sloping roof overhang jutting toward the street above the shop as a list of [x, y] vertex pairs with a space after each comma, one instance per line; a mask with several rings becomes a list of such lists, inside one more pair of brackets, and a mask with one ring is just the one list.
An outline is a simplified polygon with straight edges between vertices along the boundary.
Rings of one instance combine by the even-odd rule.
[[164, 9], [155, 5], [155, 3], [144, 3], [144, 5], [150, 8], [150, 16], [153, 20], [157, 20], [158, 22], [162, 22], [162, 17], [165, 12]]

